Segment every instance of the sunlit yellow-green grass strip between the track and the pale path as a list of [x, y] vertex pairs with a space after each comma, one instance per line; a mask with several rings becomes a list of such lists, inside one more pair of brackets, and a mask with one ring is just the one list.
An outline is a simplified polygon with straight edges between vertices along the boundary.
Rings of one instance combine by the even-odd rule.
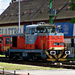
[[0, 62], [0, 66], [3, 67], [4, 70], [53, 70], [53, 69], [58, 69], [58, 68], [39, 67], [39, 66], [31, 66], [31, 65], [19, 65], [19, 64], [3, 63], [3, 62]]

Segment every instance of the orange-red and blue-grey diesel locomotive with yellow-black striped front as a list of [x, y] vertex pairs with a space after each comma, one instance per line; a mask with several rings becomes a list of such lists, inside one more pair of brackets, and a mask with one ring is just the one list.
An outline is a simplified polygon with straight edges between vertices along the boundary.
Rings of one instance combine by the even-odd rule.
[[26, 26], [26, 33], [12, 35], [12, 48], [7, 55], [12, 59], [65, 61], [69, 55], [64, 47], [64, 34], [56, 32], [53, 24]]

